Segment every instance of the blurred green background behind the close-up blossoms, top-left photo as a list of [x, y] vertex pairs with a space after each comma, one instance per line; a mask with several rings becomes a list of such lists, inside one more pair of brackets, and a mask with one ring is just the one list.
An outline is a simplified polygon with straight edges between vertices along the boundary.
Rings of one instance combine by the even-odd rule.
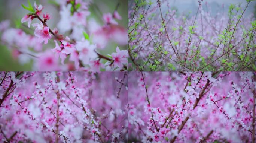
[[[34, 6], [34, 1], [36, 4], [41, 4], [44, 9], [42, 13], [49, 13], [51, 19], [47, 21], [48, 26], [53, 29], [57, 27], [57, 23], [60, 20], [60, 6], [56, 1], [60, 0], [30, 0]], [[128, 1], [127, 0], [92, 0], [92, 4], [89, 6], [89, 11], [91, 15], [88, 16], [88, 19], [94, 18], [100, 25], [103, 25], [102, 13], [113, 13], [116, 9], [116, 6], [119, 3], [117, 9], [118, 13], [121, 15], [122, 20], [116, 20], [119, 25], [124, 28], [128, 27]], [[3, 20], [10, 20], [10, 27], [12, 28], [21, 28], [26, 34], [33, 34], [34, 28], [31, 26], [27, 27], [27, 22], [21, 23], [21, 19], [28, 13], [21, 4], [27, 6], [27, 0], [0, 0], [0, 22]], [[39, 20], [33, 19], [32, 23], [39, 23]], [[2, 33], [0, 32], [0, 36]], [[68, 34], [63, 34], [68, 36]], [[120, 46], [115, 42], [110, 42], [106, 48], [103, 50], [98, 50], [101, 54], [111, 54], [115, 52], [116, 46], [119, 46], [121, 50], [127, 50], [126, 46]], [[44, 45], [43, 48], [54, 48], [55, 43], [53, 39], [49, 40], [49, 43]], [[0, 43], [0, 71], [31, 71], [33, 66], [33, 61], [20, 64], [17, 59], [12, 57], [11, 51], [6, 45], [2, 42]]]

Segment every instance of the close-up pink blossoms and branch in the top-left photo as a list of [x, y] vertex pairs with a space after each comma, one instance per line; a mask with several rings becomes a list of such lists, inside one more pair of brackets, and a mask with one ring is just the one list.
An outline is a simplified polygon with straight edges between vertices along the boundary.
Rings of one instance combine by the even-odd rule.
[[[21, 19], [19, 28], [9, 28], [8, 20], [0, 23], [1, 41], [20, 63], [28, 63], [32, 59], [33, 71], [125, 71], [127, 50], [112, 47], [108, 52], [115, 52], [101, 54], [110, 46], [110, 41], [120, 46], [128, 43], [127, 29], [118, 23], [125, 20], [117, 11], [120, 4], [123, 3], [118, 2], [113, 13], [102, 13], [98, 9], [101, 22], [97, 22], [91, 16], [90, 7], [97, 7], [93, 2], [56, 0], [60, 20], [54, 28], [48, 26], [48, 22], [55, 17], [41, 4], [34, 2], [32, 5], [28, 0], [28, 4], [22, 4], [27, 14]], [[27, 34], [21, 27], [30, 32], [34, 29], [34, 32]], [[48, 44], [49, 41], [55, 42], [55, 47]], [[43, 48], [44, 45], [48, 48]]]

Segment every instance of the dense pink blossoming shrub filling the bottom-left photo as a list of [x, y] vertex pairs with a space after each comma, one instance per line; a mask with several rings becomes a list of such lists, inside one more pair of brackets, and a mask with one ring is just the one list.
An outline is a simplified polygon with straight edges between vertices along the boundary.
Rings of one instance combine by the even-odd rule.
[[1, 72], [0, 141], [127, 140], [127, 73]]

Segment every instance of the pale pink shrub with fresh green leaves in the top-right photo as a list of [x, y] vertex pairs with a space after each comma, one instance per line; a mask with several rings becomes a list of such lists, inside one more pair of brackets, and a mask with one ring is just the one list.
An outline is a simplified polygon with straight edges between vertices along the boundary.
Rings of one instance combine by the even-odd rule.
[[244, 15], [252, 1], [211, 16], [199, 0], [191, 18], [177, 14], [168, 0], [129, 1], [130, 70], [256, 71], [256, 21]]

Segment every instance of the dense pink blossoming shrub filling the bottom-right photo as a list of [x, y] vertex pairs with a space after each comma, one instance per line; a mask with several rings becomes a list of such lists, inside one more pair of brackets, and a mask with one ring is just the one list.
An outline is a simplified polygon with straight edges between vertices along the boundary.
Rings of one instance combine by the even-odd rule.
[[128, 77], [130, 142], [255, 142], [255, 72], [131, 72]]

